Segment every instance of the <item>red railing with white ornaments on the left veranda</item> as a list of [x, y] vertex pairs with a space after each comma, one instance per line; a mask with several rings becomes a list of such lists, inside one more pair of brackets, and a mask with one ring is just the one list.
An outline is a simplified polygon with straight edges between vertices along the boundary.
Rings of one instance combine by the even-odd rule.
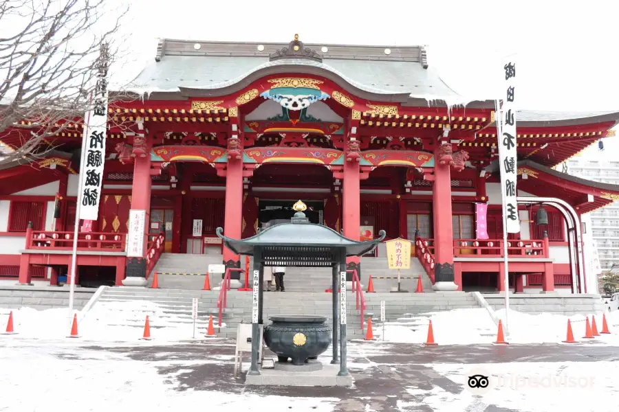
[[[73, 232], [68, 231], [26, 231], [26, 249], [73, 249]], [[125, 251], [127, 233], [79, 232], [78, 250]]]

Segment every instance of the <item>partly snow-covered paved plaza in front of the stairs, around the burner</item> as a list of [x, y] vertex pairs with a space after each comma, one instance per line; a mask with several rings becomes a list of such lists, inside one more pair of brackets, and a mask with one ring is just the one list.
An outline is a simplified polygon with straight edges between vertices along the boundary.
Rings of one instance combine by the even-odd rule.
[[[39, 411], [50, 402], [80, 412], [138, 406], [173, 411], [191, 404], [212, 411], [506, 412], [572, 405], [599, 412], [616, 405], [618, 379], [612, 371], [619, 366], [617, 348], [596, 343], [424, 347], [354, 342], [349, 345], [354, 387], [257, 388], [246, 387], [244, 376], [232, 378], [233, 341], [102, 346], [0, 339], [0, 347], [0, 387], [9, 388], [0, 398], [0, 411], [10, 412]], [[467, 385], [472, 370], [486, 373], [495, 387], [474, 393]], [[502, 376], [500, 383], [495, 375]], [[535, 379], [541, 383], [532, 385]], [[30, 396], [32, 385], [43, 393]]]

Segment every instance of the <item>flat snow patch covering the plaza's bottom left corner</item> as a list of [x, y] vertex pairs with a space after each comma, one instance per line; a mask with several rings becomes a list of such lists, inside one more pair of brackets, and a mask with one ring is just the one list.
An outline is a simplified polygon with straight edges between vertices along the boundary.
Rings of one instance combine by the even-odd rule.
[[[133, 361], [122, 354], [79, 350], [76, 359], [50, 346], [0, 351], [0, 411], [333, 411], [336, 398], [289, 398], [187, 389], [173, 391], [174, 374], [158, 374], [169, 362]], [[195, 365], [199, 360], [190, 361]], [[191, 369], [190, 369], [191, 371]], [[166, 383], [166, 381], [169, 381]], [[32, 396], [36, 388], [36, 396]], [[52, 407], [54, 409], [54, 407]]]

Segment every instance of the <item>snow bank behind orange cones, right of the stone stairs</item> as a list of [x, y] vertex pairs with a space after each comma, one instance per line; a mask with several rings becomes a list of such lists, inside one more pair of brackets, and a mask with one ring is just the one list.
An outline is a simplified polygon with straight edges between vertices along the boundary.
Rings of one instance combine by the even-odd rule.
[[[497, 310], [497, 316], [505, 322], [505, 309]], [[432, 320], [434, 341], [439, 345], [471, 345], [492, 343], [497, 340], [497, 325], [484, 308], [455, 309], [448, 312], [435, 312]], [[585, 316], [567, 317], [558, 314], [527, 314], [510, 310], [508, 317], [510, 343], [561, 343], [567, 337], [567, 319], [572, 322], [576, 341], [585, 341]], [[591, 317], [589, 317], [589, 321]], [[611, 334], [597, 336], [595, 341], [619, 345], [619, 311], [607, 315]], [[596, 314], [598, 332], [602, 330], [602, 314]], [[384, 341], [394, 343], [424, 343], [428, 336], [428, 321], [417, 318], [408, 325], [385, 325]], [[374, 336], [382, 340], [382, 324], [373, 324]]]

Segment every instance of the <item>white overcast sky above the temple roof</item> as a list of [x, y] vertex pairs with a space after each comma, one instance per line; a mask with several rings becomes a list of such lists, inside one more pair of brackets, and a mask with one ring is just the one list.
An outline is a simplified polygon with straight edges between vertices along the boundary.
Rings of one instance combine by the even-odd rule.
[[[140, 4], [144, 2], [144, 4]], [[510, 6], [511, 4], [514, 6]], [[616, 1], [138, 0], [131, 47], [153, 59], [156, 38], [427, 45], [457, 92], [495, 93], [502, 56], [517, 53], [519, 104], [558, 111], [619, 109]], [[139, 65], [133, 71], [139, 71]], [[492, 98], [492, 96], [490, 96]]]

